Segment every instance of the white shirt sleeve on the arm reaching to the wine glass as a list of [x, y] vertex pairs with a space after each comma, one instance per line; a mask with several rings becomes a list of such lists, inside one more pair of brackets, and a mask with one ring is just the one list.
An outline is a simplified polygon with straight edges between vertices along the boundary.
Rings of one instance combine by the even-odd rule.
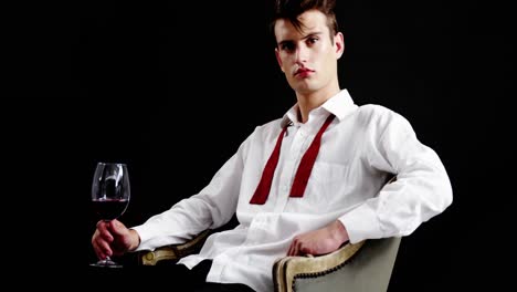
[[199, 194], [133, 227], [140, 237], [137, 250], [183, 243], [205, 229], [214, 229], [230, 221], [239, 199], [246, 142]]

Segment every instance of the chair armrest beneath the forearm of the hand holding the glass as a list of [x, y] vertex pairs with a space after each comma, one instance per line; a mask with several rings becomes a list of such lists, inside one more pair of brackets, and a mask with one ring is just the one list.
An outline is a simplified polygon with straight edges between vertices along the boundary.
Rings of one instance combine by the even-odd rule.
[[138, 262], [141, 265], [156, 265], [160, 261], [175, 261], [186, 255], [198, 252], [201, 250], [207, 238], [212, 233], [211, 229], [196, 236], [193, 239], [181, 244], [163, 246], [150, 250], [143, 250], [138, 252]]

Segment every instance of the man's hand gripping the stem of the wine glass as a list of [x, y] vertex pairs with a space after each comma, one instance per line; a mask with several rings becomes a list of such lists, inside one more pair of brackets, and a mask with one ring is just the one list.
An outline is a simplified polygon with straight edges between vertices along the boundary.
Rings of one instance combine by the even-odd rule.
[[92, 246], [99, 259], [122, 255], [135, 250], [139, 244], [138, 233], [116, 219], [109, 222], [98, 221], [97, 229], [92, 237]]

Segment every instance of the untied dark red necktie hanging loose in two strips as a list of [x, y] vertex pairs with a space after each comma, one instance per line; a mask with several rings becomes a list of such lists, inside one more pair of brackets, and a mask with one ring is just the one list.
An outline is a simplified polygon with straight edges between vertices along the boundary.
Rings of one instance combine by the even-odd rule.
[[[327, 117], [318, 134], [316, 134], [316, 137], [314, 138], [313, 143], [308, 147], [307, 152], [304, 154], [304, 157], [302, 157], [298, 170], [296, 171], [296, 176], [291, 188], [289, 197], [304, 196], [305, 188], [307, 187], [307, 181], [310, 176], [310, 171], [313, 171], [313, 166], [316, 161], [316, 157], [318, 156], [319, 146], [321, 145], [321, 136], [327, 129], [328, 125], [330, 125], [330, 123], [333, 122], [334, 117], [335, 116], [333, 114], [330, 114]], [[267, 160], [267, 164], [264, 167], [261, 181], [258, 182], [258, 186], [256, 187], [255, 194], [250, 200], [250, 204], [263, 205], [267, 200], [276, 165], [278, 164], [282, 139], [284, 138], [286, 129], [287, 127], [284, 127], [282, 129], [278, 139], [276, 140], [275, 149], [271, 154], [270, 159]]]

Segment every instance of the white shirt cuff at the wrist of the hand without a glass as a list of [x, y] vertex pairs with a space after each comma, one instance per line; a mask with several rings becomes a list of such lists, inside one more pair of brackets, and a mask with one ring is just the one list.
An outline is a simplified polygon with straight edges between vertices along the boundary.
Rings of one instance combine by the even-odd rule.
[[383, 237], [377, 213], [368, 204], [362, 204], [339, 217], [339, 221], [347, 229], [348, 239], [351, 243]]

